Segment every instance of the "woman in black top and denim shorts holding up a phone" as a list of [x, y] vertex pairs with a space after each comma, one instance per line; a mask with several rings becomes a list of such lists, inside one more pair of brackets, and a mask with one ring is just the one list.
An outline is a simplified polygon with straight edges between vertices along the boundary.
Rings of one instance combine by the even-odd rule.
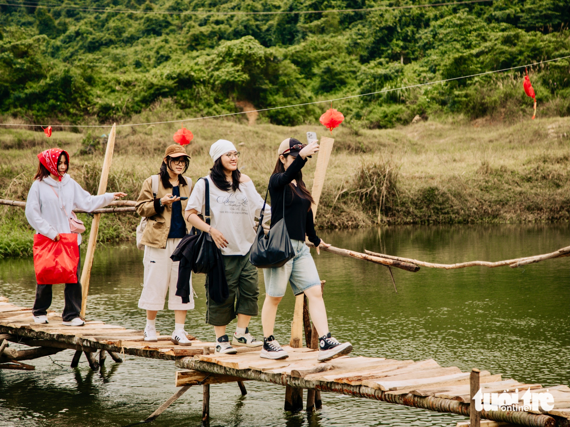
[[352, 351], [351, 343], [339, 343], [332, 338], [328, 330], [327, 311], [321, 292], [319, 273], [311, 251], [305, 244], [305, 236], [315, 245], [319, 254], [319, 245], [330, 246], [315, 233], [313, 198], [305, 187], [301, 170], [311, 157], [319, 151], [317, 141], [301, 144], [295, 138], [287, 138], [278, 150], [279, 158], [269, 179], [271, 195], [271, 226], [283, 218], [295, 251], [295, 257], [279, 268], [263, 269], [266, 297], [263, 302], [261, 320], [263, 323], [263, 350], [261, 357], [266, 359], [284, 359], [288, 354], [273, 336], [275, 315], [279, 302], [285, 295], [287, 282], [295, 295], [304, 293], [309, 302], [311, 319], [319, 334], [319, 356], [321, 361], [330, 360]]

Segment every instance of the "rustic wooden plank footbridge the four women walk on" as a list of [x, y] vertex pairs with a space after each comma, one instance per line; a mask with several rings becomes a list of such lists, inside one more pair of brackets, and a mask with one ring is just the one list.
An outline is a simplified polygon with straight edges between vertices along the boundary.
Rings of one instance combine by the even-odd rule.
[[[182, 368], [176, 372], [176, 385], [181, 389], [165, 404], [151, 414], [153, 420], [168, 405], [180, 397], [189, 387], [204, 388], [203, 416], [209, 416], [209, 385], [238, 382], [246, 393], [243, 381], [262, 381], [287, 387], [286, 406], [290, 410], [303, 408], [303, 389], [307, 389], [307, 410], [320, 407], [320, 392], [334, 392], [355, 397], [380, 400], [409, 407], [437, 412], [475, 417], [474, 425], [518, 424], [531, 427], [570, 427], [570, 388], [566, 385], [544, 389], [540, 384], [519, 383], [504, 379], [500, 374], [487, 371], [462, 372], [457, 367], [442, 367], [433, 359], [394, 360], [343, 356], [329, 362], [318, 362], [317, 351], [311, 348], [291, 348], [288, 359], [267, 360], [259, 357], [259, 351], [238, 347], [237, 355], [215, 354], [214, 343], [201, 342], [193, 336], [192, 346], [177, 346], [170, 342], [170, 335], [158, 336], [157, 343], [145, 343], [143, 331], [109, 325], [100, 321], [88, 321], [82, 327], [62, 325], [59, 313], [48, 313], [50, 323], [34, 323], [31, 309], [11, 304], [0, 297], [0, 368], [34, 369], [22, 363], [55, 354], [66, 349], [75, 350], [71, 366], [77, 366], [82, 353], [87, 356], [91, 369], [99, 369], [109, 354], [115, 362], [122, 362], [124, 355], [151, 359], [173, 360]], [[9, 342], [29, 346], [26, 350], [13, 350]], [[99, 357], [97, 358], [97, 352]], [[476, 375], [474, 375], [476, 374]], [[549, 392], [553, 395], [554, 408], [543, 409], [482, 410], [471, 409], [473, 385], [483, 393]], [[522, 393], [519, 393], [522, 399]], [[522, 400], [520, 405], [522, 405]], [[479, 421], [477, 417], [499, 424]], [[501, 424], [503, 423], [503, 424]]]

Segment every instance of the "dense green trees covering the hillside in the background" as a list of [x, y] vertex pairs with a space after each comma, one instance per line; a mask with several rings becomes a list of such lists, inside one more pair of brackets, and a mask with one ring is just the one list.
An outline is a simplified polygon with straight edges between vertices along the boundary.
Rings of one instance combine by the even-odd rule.
[[[79, 122], [85, 116], [127, 120], [171, 98], [188, 114], [220, 114], [238, 111], [236, 101], [270, 108], [570, 55], [570, 0], [349, 13], [188, 13], [420, 3], [64, 0], [55, 6], [40, 0], [38, 7], [0, 6], [0, 113], [36, 122]], [[569, 64], [565, 59], [531, 70], [539, 114], [570, 114]], [[518, 117], [528, 115], [531, 105], [522, 91], [522, 71], [395, 90], [335, 106], [348, 121], [371, 128], [409, 122], [423, 113]], [[314, 121], [324, 106], [271, 110], [261, 117], [299, 124]]]

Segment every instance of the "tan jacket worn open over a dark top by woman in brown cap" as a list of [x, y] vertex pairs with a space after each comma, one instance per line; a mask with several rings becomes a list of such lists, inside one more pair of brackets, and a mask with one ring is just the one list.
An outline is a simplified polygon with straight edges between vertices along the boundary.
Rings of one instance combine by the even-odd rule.
[[[188, 177], [185, 177], [185, 179], [188, 185], [180, 186], [180, 196], [190, 197], [192, 179]], [[140, 216], [146, 216], [148, 218], [143, 232], [143, 239], [141, 239], [143, 245], [160, 249], [166, 248], [166, 240], [168, 239], [168, 233], [170, 231], [172, 205], [169, 204], [161, 208], [159, 200], [169, 193], [172, 193], [172, 188], [164, 188], [162, 186], [162, 180], [158, 178], [158, 192], [156, 199], [154, 199], [152, 194], [152, 178], [149, 176], [145, 179], [136, 204], [137, 213], [139, 213]], [[184, 216], [188, 199], [180, 200], [180, 203], [182, 203], [182, 216]], [[192, 228], [192, 225], [186, 222], [187, 233], [190, 228]]]

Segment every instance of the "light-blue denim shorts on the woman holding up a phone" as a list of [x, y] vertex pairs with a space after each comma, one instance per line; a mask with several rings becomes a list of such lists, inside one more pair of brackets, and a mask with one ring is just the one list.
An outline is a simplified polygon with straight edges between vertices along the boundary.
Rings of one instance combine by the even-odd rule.
[[283, 297], [287, 281], [295, 295], [302, 294], [313, 286], [320, 286], [319, 273], [311, 250], [304, 241], [291, 239], [295, 256], [279, 268], [264, 268], [265, 293], [270, 297]]

